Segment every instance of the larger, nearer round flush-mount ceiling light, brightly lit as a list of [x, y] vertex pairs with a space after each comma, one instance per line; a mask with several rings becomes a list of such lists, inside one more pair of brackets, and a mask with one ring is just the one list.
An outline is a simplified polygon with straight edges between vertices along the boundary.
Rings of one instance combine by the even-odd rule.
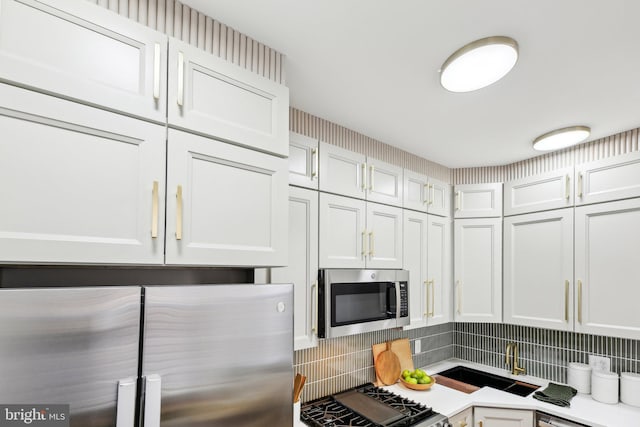
[[518, 43], [511, 37], [476, 40], [455, 51], [442, 64], [440, 84], [451, 92], [471, 92], [503, 78], [518, 60]]

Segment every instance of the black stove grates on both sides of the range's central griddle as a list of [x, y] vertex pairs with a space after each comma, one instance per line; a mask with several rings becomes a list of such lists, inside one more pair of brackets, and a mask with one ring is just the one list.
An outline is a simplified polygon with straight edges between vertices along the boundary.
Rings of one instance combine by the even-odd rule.
[[312, 427], [407, 427], [436, 414], [426, 405], [376, 387], [371, 383], [354, 387], [353, 390], [394, 408], [405, 417], [391, 424], [377, 424], [364, 415], [336, 402], [333, 397], [327, 396], [305, 403], [300, 410], [300, 419]]

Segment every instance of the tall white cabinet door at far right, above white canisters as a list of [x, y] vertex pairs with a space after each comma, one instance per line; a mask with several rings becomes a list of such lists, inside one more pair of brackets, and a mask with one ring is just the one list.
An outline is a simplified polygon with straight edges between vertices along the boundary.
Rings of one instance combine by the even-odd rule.
[[640, 199], [575, 209], [576, 332], [640, 338]]

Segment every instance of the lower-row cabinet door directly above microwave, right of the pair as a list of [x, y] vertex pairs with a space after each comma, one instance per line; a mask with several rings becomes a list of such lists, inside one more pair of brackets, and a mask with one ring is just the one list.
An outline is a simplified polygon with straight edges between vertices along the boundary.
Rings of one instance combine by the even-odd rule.
[[402, 268], [402, 209], [367, 202], [367, 268]]

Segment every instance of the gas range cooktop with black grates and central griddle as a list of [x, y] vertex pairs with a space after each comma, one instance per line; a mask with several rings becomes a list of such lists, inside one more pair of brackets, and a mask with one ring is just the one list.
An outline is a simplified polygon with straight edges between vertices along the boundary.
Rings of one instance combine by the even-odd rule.
[[371, 383], [302, 405], [312, 427], [451, 427], [447, 417]]

